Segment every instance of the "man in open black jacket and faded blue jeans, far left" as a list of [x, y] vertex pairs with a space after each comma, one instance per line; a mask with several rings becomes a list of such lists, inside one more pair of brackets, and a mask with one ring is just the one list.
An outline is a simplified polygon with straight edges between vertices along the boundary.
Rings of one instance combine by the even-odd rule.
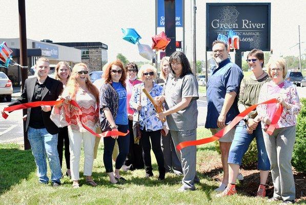
[[[63, 90], [63, 84], [48, 76], [49, 60], [40, 57], [36, 61], [37, 77], [28, 78], [21, 97], [9, 106], [34, 101], [56, 100]], [[2, 111], [3, 112], [3, 111]], [[51, 169], [51, 181], [54, 187], [60, 185], [62, 171], [57, 152], [57, 126], [50, 119], [51, 106], [29, 108], [27, 112], [26, 131], [37, 166], [40, 183], [48, 183], [47, 161]]]

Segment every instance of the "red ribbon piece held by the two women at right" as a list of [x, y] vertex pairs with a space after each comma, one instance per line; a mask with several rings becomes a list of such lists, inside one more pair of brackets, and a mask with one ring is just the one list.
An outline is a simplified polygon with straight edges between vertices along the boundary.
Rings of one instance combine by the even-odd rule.
[[[203, 144], [207, 144], [209, 142], [212, 141], [216, 141], [218, 139], [220, 139], [221, 137], [223, 137], [226, 133], [228, 133], [233, 127], [235, 127], [236, 124], [238, 124], [238, 122], [247, 114], [249, 114], [252, 110], [254, 110], [257, 106], [262, 105], [262, 104], [273, 104], [273, 103], [278, 103], [276, 98], [273, 99], [269, 99], [267, 101], [264, 101], [263, 103], [260, 104], [255, 104], [250, 106], [249, 108], [247, 108], [246, 110], [244, 110], [243, 112], [239, 113], [231, 122], [230, 124], [221, 129], [219, 132], [217, 132], [215, 135], [208, 137], [208, 138], [203, 138], [203, 139], [198, 139], [198, 140], [192, 140], [192, 141], [183, 141], [180, 142], [180, 144], [178, 144], [176, 146], [176, 149], [181, 150], [182, 148], [188, 147], [188, 146], [196, 146], [196, 145], [203, 145]], [[275, 126], [280, 118], [280, 115], [282, 113], [282, 106], [280, 104], [280, 106], [277, 108], [272, 120], [271, 120], [271, 125], [268, 127], [267, 129], [267, 133], [269, 135], [271, 135], [275, 129]]]

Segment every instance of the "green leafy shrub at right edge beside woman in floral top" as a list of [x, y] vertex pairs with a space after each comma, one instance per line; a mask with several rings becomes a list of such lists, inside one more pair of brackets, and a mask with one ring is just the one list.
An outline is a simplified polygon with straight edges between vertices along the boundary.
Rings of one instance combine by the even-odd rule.
[[297, 116], [296, 139], [292, 154], [292, 166], [306, 173], [306, 98], [301, 98], [301, 111]]

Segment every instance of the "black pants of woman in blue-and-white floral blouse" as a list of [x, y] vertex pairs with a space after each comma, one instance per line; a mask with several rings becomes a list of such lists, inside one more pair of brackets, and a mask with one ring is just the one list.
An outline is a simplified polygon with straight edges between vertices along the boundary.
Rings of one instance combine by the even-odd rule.
[[[151, 144], [152, 144], [152, 150], [154, 152], [157, 165], [158, 165], [158, 171], [159, 173], [165, 173], [165, 160], [164, 160], [164, 154], [162, 154], [161, 146], [160, 146], [160, 130], [157, 131], [144, 131], [141, 130], [141, 138], [140, 138], [140, 144], [142, 146], [142, 156], [144, 157], [145, 161], [145, 170], [146, 173], [152, 173], [152, 163], [151, 163]], [[151, 138], [151, 143], [150, 143]]]

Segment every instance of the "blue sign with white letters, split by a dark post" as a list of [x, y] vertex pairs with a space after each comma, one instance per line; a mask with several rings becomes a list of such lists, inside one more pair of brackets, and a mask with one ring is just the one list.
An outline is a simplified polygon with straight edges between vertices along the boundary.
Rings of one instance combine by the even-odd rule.
[[[175, 0], [175, 27], [183, 26], [183, 0]], [[157, 27], [165, 27], [165, 0], [157, 0]]]

